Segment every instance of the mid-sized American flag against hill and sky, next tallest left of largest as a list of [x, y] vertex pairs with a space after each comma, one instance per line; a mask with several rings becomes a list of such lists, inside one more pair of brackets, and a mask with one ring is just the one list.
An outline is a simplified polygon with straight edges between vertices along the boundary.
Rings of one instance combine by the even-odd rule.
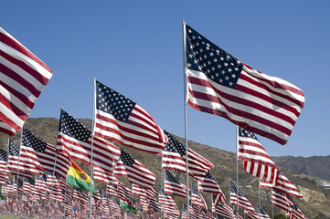
[[95, 81], [95, 135], [140, 151], [161, 155], [164, 131], [141, 106]]

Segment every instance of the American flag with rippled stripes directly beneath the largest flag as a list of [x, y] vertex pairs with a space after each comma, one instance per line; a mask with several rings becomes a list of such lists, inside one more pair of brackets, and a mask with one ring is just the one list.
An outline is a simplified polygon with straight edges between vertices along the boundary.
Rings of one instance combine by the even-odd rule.
[[244, 169], [251, 175], [272, 184], [276, 183], [279, 168], [272, 162], [254, 133], [241, 127], [239, 127], [238, 158], [244, 162]]

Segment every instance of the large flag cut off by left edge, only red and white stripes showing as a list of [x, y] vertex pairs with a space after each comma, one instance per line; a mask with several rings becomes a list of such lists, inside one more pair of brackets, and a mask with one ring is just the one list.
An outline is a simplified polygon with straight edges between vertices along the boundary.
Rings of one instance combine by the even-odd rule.
[[16, 135], [52, 71], [0, 27], [0, 131]]

